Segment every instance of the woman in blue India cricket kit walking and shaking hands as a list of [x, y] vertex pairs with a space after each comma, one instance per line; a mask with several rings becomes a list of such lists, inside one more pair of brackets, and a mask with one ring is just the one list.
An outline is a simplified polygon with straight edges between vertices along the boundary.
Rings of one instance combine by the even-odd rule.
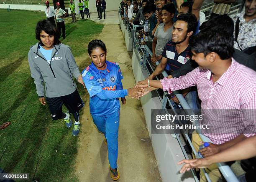
[[123, 89], [120, 67], [118, 63], [106, 60], [107, 50], [101, 40], [92, 40], [88, 45], [88, 53], [92, 63], [82, 71], [82, 77], [90, 95], [93, 122], [104, 134], [105, 144], [108, 145], [111, 178], [116, 181], [120, 177], [117, 170], [119, 97], [124, 105], [125, 96], [139, 98], [143, 90], [135, 87]]

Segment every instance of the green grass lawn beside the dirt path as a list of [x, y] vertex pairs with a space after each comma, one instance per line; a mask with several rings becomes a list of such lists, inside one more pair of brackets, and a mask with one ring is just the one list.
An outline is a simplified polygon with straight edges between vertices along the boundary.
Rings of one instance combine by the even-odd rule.
[[[0, 9], [0, 168], [7, 173], [29, 173], [30, 180], [78, 181], [74, 173], [78, 139], [64, 122], [51, 120], [49, 108], [38, 102], [28, 66], [28, 50], [37, 40], [36, 22], [44, 12]], [[64, 44], [75, 58], [87, 53], [87, 44], [103, 25], [90, 20], [66, 20]], [[80, 71], [89, 65], [79, 62]], [[85, 91], [78, 85], [83, 98]], [[66, 111], [66, 110], [64, 110]]]

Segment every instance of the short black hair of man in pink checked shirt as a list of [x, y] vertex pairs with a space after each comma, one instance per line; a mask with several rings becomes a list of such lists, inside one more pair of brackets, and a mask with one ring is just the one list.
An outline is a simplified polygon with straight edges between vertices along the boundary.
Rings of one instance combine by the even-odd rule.
[[193, 51], [204, 53], [205, 56], [210, 52], [215, 52], [222, 60], [232, 57], [233, 45], [233, 37], [225, 31], [215, 32], [207, 29], [190, 38], [190, 46]]

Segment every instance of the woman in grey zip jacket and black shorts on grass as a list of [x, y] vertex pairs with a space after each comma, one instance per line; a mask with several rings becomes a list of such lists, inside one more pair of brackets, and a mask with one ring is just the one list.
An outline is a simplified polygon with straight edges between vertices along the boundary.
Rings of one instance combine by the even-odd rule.
[[[71, 115], [75, 123], [72, 132], [77, 136], [80, 130], [79, 110], [84, 103], [77, 92], [73, 77], [84, 86], [82, 75], [71, 52], [71, 48], [61, 44], [59, 32], [48, 20], [36, 25], [36, 45], [28, 52], [31, 77], [36, 84], [36, 93], [42, 105], [49, 105], [53, 120], [64, 119], [68, 128], [72, 127]], [[62, 112], [62, 105], [69, 110]]]

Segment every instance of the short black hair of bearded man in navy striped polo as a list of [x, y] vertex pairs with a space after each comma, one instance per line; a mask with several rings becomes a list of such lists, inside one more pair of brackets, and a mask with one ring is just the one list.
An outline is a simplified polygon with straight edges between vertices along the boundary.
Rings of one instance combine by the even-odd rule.
[[184, 22], [187, 22], [187, 32], [193, 31], [193, 34], [195, 34], [195, 31], [197, 30], [197, 18], [195, 15], [190, 14], [190, 13], [182, 13], [177, 17], [177, 21], [181, 20]]

